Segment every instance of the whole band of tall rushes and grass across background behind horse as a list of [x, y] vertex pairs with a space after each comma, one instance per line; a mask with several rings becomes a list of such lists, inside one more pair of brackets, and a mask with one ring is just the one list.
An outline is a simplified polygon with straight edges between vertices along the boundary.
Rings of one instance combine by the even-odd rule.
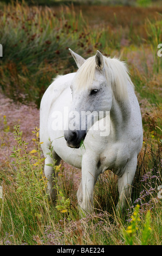
[[[0, 39], [3, 45], [0, 86], [3, 92], [15, 101], [34, 101], [39, 107], [52, 78], [76, 69], [68, 48], [86, 58], [96, 50], [113, 57], [120, 56], [131, 45], [139, 47], [144, 44], [145, 47], [146, 42], [152, 51], [153, 72], [160, 73], [157, 44], [161, 40], [161, 16], [156, 14], [146, 24], [135, 18], [133, 25], [131, 16], [126, 19], [122, 9], [117, 10], [118, 15], [109, 13], [111, 19], [108, 25], [101, 23], [92, 27], [90, 20], [73, 5], [70, 8], [28, 7], [24, 2], [4, 5], [0, 11]], [[136, 17], [137, 10], [131, 11]], [[98, 19], [101, 19], [100, 16]]]

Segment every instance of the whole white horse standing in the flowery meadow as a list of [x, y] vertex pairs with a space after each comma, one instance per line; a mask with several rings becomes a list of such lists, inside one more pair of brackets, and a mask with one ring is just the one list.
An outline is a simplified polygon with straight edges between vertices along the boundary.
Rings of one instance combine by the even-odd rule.
[[[131, 194], [143, 139], [134, 86], [124, 62], [107, 58], [99, 51], [87, 60], [72, 50], [70, 52], [79, 69], [57, 77], [44, 93], [40, 107], [40, 140], [46, 157], [44, 173], [48, 179], [48, 192], [55, 200], [54, 169], [46, 165], [53, 162], [47, 154], [50, 138], [57, 164], [62, 159], [82, 170], [77, 191], [82, 212], [93, 212], [94, 185], [98, 176], [107, 169], [118, 175], [117, 208], [122, 210]], [[71, 113], [70, 118], [67, 109]], [[60, 118], [56, 118], [56, 113], [60, 113]], [[102, 113], [101, 117], [99, 113]], [[107, 113], [110, 113], [109, 122], [105, 124], [109, 128], [102, 136]], [[62, 125], [65, 120], [68, 124], [66, 128]], [[92, 127], [100, 124], [99, 129], [89, 129], [89, 120]], [[79, 148], [82, 142], [83, 147]]]

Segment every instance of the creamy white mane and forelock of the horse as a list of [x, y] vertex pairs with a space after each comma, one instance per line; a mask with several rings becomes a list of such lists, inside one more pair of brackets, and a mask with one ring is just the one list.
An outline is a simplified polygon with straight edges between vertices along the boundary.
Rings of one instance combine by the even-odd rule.
[[[106, 80], [111, 84], [114, 96], [118, 100], [126, 100], [128, 97], [127, 83], [134, 85], [129, 77], [128, 68], [125, 62], [118, 58], [107, 58], [103, 56]], [[95, 79], [96, 63], [95, 56], [88, 58], [77, 70], [74, 83], [77, 89], [90, 88]]]

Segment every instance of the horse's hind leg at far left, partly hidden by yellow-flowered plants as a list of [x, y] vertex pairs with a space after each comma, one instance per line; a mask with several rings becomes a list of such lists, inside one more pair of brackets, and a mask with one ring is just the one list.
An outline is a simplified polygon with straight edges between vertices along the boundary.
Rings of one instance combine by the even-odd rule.
[[53, 164], [53, 160], [56, 161], [56, 165], [60, 164], [61, 158], [58, 156], [55, 151], [53, 152], [53, 159], [47, 155], [44, 164], [44, 174], [48, 180], [47, 183], [47, 193], [49, 194], [49, 198], [52, 202], [56, 200], [56, 190], [54, 188], [54, 178], [55, 178], [55, 170], [53, 166], [49, 166], [47, 164]]

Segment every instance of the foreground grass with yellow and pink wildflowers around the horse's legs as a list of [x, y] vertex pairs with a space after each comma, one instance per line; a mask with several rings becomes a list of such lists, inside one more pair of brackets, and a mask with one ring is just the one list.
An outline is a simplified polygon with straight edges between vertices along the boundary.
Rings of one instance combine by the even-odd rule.
[[[1, 245], [140, 245], [142, 241], [149, 245], [160, 244], [159, 149], [155, 153], [147, 142], [144, 152], [141, 153], [133, 183], [132, 205], [126, 210], [125, 218], [120, 218], [115, 212], [118, 199], [116, 179], [111, 173], [105, 173], [105, 177], [100, 177], [95, 188], [95, 213], [79, 220], [74, 191], [70, 191], [73, 196], [67, 197], [64, 190], [64, 184], [68, 184], [65, 170], [55, 164], [53, 167], [59, 174], [55, 179], [56, 205], [48, 199], [47, 179], [43, 174], [44, 159], [40, 150], [42, 142], [38, 138], [39, 129], [36, 127], [33, 131], [35, 147], [31, 151], [28, 151], [28, 143], [22, 139], [20, 126], [15, 126], [14, 130], [16, 144], [10, 156], [13, 161], [10, 168], [5, 168], [0, 173], [3, 187], [3, 198], [0, 199]], [[137, 230], [132, 230], [131, 238], [129, 235], [133, 227], [132, 216], [137, 204], [140, 223], [133, 222]], [[154, 215], [155, 219], [152, 217]]]

